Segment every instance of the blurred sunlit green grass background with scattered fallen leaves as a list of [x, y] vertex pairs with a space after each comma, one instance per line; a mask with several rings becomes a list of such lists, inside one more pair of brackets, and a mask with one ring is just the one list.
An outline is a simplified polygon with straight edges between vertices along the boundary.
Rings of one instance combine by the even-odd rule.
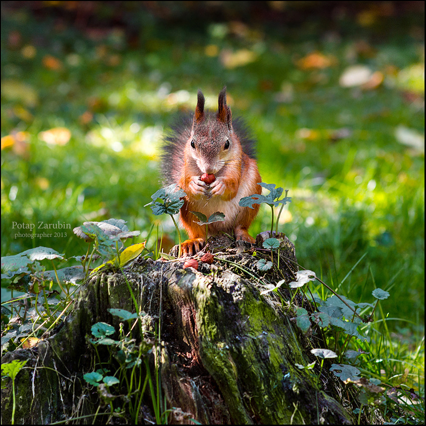
[[[280, 230], [299, 263], [355, 301], [389, 291], [408, 320], [391, 326], [419, 331], [424, 53], [423, 1], [3, 1], [1, 255], [84, 254], [72, 228], [110, 217], [176, 242], [143, 207], [159, 146], [198, 89], [217, 108], [226, 85], [263, 181], [292, 197]], [[17, 235], [39, 221], [71, 229]]]

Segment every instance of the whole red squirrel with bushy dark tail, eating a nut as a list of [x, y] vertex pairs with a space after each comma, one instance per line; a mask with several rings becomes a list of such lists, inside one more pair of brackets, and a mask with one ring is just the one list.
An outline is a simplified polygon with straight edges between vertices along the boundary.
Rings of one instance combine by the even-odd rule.
[[262, 182], [256, 159], [255, 142], [248, 137], [240, 119], [232, 120], [226, 105], [226, 87], [219, 93], [217, 112], [204, 110], [204, 96], [198, 91], [195, 112], [172, 127], [174, 133], [165, 139], [161, 161], [165, 184], [177, 184], [186, 197], [180, 209], [180, 222], [189, 239], [181, 244], [184, 255], [192, 255], [206, 242], [205, 226], [198, 225], [200, 212], [207, 218], [225, 214], [225, 220], [211, 223], [209, 235], [234, 232], [237, 240], [255, 242], [247, 231], [259, 212], [239, 206], [243, 197], [261, 194]]

